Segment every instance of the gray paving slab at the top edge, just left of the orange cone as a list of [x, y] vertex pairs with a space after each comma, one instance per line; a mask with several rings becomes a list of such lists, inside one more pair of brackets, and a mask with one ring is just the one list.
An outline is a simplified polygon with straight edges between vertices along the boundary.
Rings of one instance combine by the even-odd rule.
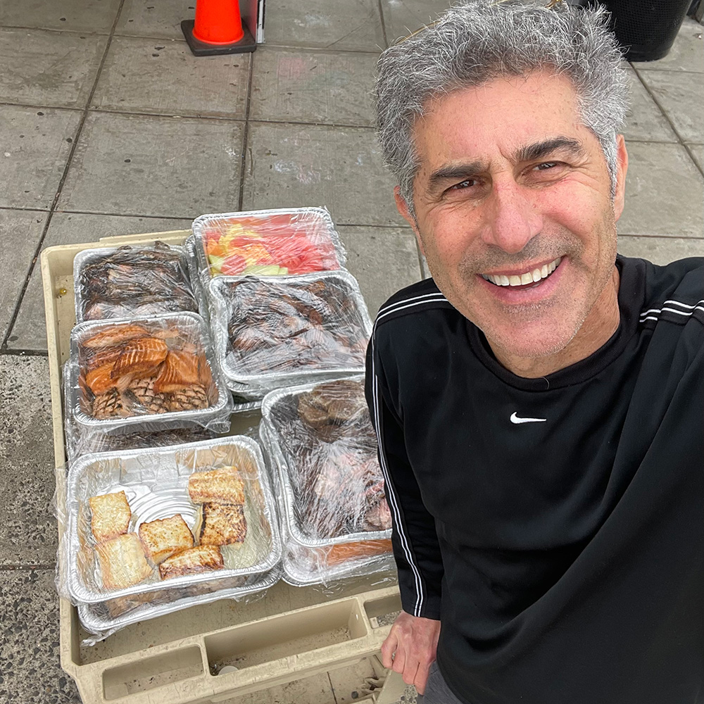
[[115, 34], [185, 41], [181, 20], [192, 20], [195, 10], [195, 0], [125, 0]]

